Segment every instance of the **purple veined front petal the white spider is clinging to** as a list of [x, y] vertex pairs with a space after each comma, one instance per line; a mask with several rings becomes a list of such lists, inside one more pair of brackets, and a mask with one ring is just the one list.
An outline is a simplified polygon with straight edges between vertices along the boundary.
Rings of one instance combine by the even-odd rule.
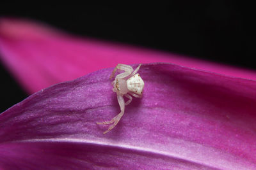
[[256, 168], [256, 81], [143, 64], [143, 97], [104, 135], [108, 127], [95, 122], [120, 111], [112, 70], [41, 90], [1, 113], [0, 167]]

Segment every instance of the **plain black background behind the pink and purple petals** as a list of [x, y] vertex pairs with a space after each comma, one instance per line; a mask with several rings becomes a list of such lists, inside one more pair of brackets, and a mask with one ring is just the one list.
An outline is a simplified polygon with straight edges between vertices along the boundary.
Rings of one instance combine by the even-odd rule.
[[[252, 9], [251, 9], [252, 8]], [[163, 4], [13, 6], [0, 14], [39, 20], [77, 36], [128, 43], [198, 59], [256, 69], [254, 6], [235, 1]], [[4, 69], [0, 112], [27, 94]]]

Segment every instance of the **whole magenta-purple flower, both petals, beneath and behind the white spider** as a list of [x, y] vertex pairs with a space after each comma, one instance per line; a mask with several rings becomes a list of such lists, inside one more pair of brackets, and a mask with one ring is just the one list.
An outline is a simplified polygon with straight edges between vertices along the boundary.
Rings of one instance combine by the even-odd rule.
[[[29, 92], [64, 81], [0, 114], [0, 169], [256, 169], [252, 71], [8, 19], [0, 52]], [[156, 60], [182, 66], [142, 64], [143, 97], [102, 134], [120, 108], [101, 68]]]

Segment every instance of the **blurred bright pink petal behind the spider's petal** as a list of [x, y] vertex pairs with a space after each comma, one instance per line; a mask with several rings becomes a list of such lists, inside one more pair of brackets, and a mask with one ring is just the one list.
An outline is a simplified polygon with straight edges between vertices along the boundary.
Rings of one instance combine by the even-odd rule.
[[256, 80], [255, 71], [172, 53], [68, 36], [28, 20], [0, 19], [0, 57], [30, 93], [116, 64], [170, 62]]

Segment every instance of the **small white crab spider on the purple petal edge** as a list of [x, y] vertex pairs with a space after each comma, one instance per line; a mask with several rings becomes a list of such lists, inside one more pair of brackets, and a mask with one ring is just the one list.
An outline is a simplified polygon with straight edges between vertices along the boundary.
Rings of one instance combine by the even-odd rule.
[[[132, 96], [134, 97], [141, 97], [144, 88], [144, 81], [138, 74], [138, 70], [140, 69], [141, 64], [133, 71], [131, 66], [125, 64], [117, 64], [113, 73], [111, 74], [110, 78], [113, 78], [116, 71], [122, 70], [124, 73], [120, 73], [116, 75], [115, 80], [112, 82], [113, 85], [113, 92], [116, 92], [117, 100], [121, 109], [121, 112], [112, 118], [110, 121], [107, 122], [97, 122], [97, 124], [104, 124], [109, 125], [108, 130], [104, 132], [104, 134], [108, 133], [113, 129], [116, 124], [118, 124], [120, 118], [124, 115], [124, 108], [132, 101]], [[137, 73], [137, 74], [136, 74]], [[131, 94], [131, 95], [130, 95]], [[125, 103], [124, 96], [127, 97], [129, 100]]]

